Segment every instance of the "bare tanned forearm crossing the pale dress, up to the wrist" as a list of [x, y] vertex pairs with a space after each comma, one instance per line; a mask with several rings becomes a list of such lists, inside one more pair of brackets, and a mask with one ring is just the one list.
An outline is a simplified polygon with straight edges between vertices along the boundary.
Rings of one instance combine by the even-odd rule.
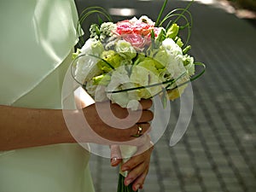
[[60, 109], [0, 106], [0, 150], [73, 142]]

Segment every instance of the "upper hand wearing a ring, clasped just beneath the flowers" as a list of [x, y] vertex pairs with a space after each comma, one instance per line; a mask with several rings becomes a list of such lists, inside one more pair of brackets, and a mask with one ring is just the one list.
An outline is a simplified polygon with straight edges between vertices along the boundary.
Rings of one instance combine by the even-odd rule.
[[110, 102], [97, 102], [83, 109], [84, 117], [98, 136], [110, 142], [127, 142], [137, 135], [138, 125], [143, 128], [142, 134], [150, 129], [148, 121], [153, 119], [154, 114], [148, 109], [152, 101], [148, 99], [140, 103], [141, 108], [131, 111]]

